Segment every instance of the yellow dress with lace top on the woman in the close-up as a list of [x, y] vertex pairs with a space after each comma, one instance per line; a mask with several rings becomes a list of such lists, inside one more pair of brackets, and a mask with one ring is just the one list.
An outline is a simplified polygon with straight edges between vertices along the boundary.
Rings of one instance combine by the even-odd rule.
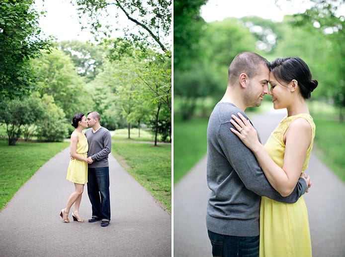
[[[308, 167], [315, 136], [315, 124], [308, 114], [285, 117], [264, 145], [272, 160], [283, 166], [285, 144], [283, 136], [290, 124], [303, 118], [312, 128], [312, 141], [307, 150], [302, 172]], [[298, 143], [298, 142], [296, 142]], [[260, 257], [311, 257], [307, 207], [301, 196], [296, 203], [285, 204], [261, 197], [260, 204]]]

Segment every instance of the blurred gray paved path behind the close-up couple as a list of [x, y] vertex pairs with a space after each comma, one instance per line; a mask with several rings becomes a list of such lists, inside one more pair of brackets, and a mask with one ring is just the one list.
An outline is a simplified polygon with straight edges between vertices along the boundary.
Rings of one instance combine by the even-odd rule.
[[[272, 111], [252, 121], [265, 142], [286, 113]], [[312, 153], [309, 168], [313, 186], [304, 195], [312, 239], [313, 257], [345, 257], [345, 184]], [[205, 224], [209, 189], [206, 157], [174, 187], [175, 257], [210, 257]]]

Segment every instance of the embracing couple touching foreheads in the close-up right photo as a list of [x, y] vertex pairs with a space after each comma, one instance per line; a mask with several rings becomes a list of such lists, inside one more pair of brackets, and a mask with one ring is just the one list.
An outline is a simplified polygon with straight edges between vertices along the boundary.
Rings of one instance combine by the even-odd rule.
[[[302, 195], [311, 186], [303, 172], [315, 136], [306, 99], [317, 85], [298, 57], [269, 63], [243, 52], [230, 64], [226, 93], [207, 128], [206, 226], [213, 256], [312, 256]], [[265, 94], [287, 116], [262, 145], [245, 110], [258, 107]]]

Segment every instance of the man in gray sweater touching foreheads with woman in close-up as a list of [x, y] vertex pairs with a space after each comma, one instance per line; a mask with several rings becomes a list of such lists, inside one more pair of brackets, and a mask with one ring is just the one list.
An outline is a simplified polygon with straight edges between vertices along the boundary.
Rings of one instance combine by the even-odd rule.
[[291, 195], [282, 197], [265, 178], [255, 155], [234, 134], [231, 115], [258, 107], [268, 94], [269, 63], [256, 53], [238, 54], [229, 67], [228, 85], [207, 128], [207, 183], [211, 190], [206, 214], [213, 256], [259, 256], [261, 196], [294, 203], [309, 177], [301, 177]]

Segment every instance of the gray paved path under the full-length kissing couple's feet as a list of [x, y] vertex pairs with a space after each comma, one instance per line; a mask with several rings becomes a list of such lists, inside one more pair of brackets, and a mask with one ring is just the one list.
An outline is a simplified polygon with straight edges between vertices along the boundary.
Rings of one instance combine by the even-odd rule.
[[[109, 155], [111, 222], [63, 223], [74, 185], [69, 148], [45, 163], [0, 212], [0, 257], [171, 256], [171, 215]], [[85, 186], [80, 216], [89, 219]]]

